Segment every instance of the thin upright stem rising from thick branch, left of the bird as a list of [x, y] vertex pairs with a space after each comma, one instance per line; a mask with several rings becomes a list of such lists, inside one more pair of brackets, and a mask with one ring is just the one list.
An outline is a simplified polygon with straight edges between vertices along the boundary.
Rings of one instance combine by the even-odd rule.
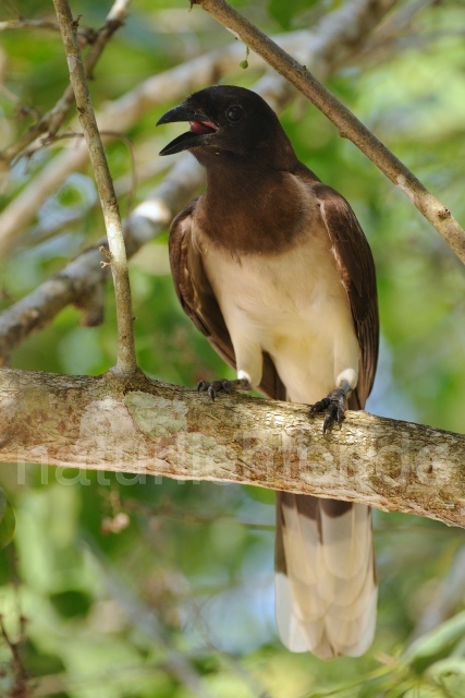
[[118, 323], [118, 361], [115, 369], [120, 373], [129, 374], [137, 369], [137, 362], [130, 275], [118, 200], [87, 86], [86, 70], [77, 41], [76, 22], [73, 20], [68, 0], [53, 0], [53, 4], [63, 38], [76, 108], [96, 176], [110, 248], [110, 265], [117, 299]]

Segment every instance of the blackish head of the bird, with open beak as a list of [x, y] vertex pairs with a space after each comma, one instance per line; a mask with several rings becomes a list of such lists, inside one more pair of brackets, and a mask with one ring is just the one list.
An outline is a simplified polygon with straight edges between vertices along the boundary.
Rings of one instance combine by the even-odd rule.
[[191, 129], [171, 141], [160, 155], [193, 151], [203, 155], [254, 157], [265, 149], [281, 155], [292, 146], [274, 111], [256, 93], [232, 85], [215, 85], [196, 92], [179, 107], [167, 111], [157, 125], [188, 121]]

